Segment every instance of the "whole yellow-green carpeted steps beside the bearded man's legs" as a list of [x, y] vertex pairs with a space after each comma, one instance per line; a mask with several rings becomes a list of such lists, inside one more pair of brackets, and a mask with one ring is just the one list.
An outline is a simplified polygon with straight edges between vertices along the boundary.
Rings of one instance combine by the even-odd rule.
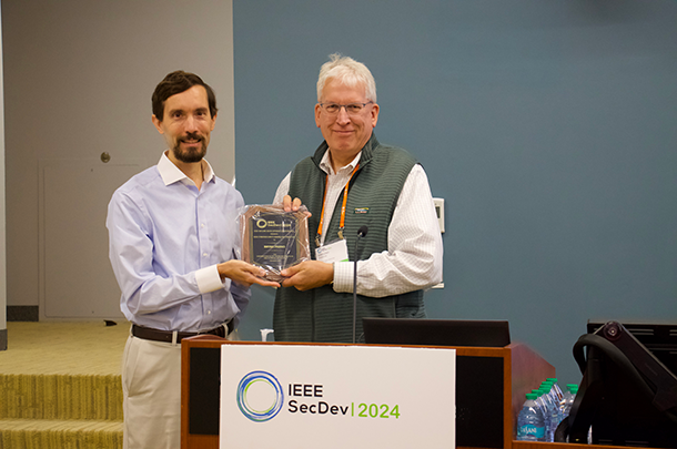
[[128, 334], [128, 323], [8, 323], [0, 449], [122, 448], [120, 360]]

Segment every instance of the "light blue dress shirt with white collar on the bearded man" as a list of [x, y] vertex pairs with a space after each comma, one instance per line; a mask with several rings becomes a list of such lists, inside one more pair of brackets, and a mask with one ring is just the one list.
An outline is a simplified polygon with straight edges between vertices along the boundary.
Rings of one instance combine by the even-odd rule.
[[216, 264], [240, 254], [242, 195], [203, 161], [200, 191], [165, 154], [115, 191], [108, 206], [109, 256], [131, 323], [201, 331], [240, 316], [250, 290], [221, 282]]

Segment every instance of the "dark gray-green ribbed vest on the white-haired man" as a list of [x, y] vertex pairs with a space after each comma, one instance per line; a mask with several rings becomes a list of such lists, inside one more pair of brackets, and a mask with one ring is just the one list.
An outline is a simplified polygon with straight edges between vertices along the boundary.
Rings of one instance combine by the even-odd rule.
[[[326, 174], [320, 161], [327, 151], [326, 142], [315, 154], [301, 161], [292, 171], [289, 194], [303, 201], [313, 214], [309, 218], [311, 255], [315, 258], [315, 236], [322, 214]], [[362, 149], [360, 169], [350, 183], [345, 228], [351, 261], [368, 258], [387, 251], [387, 227], [402, 186], [416, 161], [404, 150], [386, 146], [372, 137]], [[340, 226], [343, 194], [327, 229], [327, 242], [335, 239]], [[357, 229], [368, 226], [355, 251]], [[357, 265], [360, 271], [360, 265]], [[362, 335], [362, 317], [425, 317], [423, 292], [383, 298], [357, 296], [356, 335]], [[335, 293], [331, 285], [299, 292], [294, 287], [277, 288], [273, 314], [276, 341], [351, 343], [353, 339], [353, 294]]]

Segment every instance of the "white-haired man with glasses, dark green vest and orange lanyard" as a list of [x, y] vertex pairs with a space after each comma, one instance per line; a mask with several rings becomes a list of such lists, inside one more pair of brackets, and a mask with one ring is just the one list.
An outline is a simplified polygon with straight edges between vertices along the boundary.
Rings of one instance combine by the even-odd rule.
[[332, 54], [317, 80], [315, 124], [324, 142], [274, 198], [286, 211], [307, 207], [313, 256], [282, 272], [277, 341], [352, 341], [352, 261], [361, 261], [357, 337], [362, 317], [425, 317], [423, 290], [442, 280], [442, 236], [425, 172], [406, 151], [376, 140], [377, 121], [370, 70]]

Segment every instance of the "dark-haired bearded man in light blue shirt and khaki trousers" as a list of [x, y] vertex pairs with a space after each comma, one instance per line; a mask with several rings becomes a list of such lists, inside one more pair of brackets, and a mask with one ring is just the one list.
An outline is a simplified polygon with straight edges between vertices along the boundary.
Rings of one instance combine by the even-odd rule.
[[264, 274], [235, 257], [242, 195], [203, 159], [216, 120], [212, 89], [176, 71], [158, 84], [152, 121], [166, 150], [109, 204], [110, 259], [132, 323], [122, 359], [124, 448], [179, 448], [181, 339], [226, 337]]

